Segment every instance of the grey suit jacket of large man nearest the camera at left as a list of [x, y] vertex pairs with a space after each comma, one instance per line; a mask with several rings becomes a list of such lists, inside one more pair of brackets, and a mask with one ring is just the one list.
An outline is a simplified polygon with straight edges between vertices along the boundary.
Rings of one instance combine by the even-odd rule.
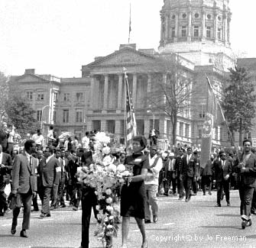
[[25, 153], [15, 156], [12, 166], [12, 188], [21, 194], [37, 192], [37, 159], [31, 156], [31, 165]]

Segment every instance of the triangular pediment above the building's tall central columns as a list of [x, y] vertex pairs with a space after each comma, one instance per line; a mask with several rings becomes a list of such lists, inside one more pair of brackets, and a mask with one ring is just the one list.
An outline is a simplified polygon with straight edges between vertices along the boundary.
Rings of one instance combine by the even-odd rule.
[[157, 59], [153, 55], [142, 53], [131, 48], [123, 48], [108, 56], [101, 57], [99, 60], [96, 60], [87, 66], [133, 66], [154, 63], [156, 61]]

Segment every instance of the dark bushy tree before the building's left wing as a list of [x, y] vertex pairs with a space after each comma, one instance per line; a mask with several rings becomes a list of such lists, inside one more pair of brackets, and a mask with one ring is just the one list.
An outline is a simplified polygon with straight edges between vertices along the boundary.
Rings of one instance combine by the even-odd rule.
[[5, 103], [5, 111], [8, 114], [9, 124], [15, 125], [18, 133], [23, 137], [39, 127], [39, 123], [34, 118], [35, 111], [30, 107], [28, 101], [18, 94], [13, 94], [8, 98]]

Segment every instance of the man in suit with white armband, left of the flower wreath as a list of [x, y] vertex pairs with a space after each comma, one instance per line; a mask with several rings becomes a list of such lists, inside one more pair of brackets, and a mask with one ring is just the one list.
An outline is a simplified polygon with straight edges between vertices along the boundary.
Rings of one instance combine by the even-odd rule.
[[50, 196], [53, 187], [57, 188], [60, 182], [60, 165], [57, 158], [53, 156], [53, 148], [47, 147], [44, 159], [39, 164], [39, 173], [44, 188], [44, 198], [42, 202], [42, 213], [40, 217], [50, 217]]

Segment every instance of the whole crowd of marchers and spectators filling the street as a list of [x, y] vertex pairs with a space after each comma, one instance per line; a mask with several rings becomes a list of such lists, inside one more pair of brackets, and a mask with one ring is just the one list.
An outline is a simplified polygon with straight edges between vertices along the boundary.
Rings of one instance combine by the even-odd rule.
[[[14, 129], [14, 128], [13, 128]], [[85, 189], [77, 179], [79, 167], [93, 161], [96, 131], [86, 132], [82, 143], [78, 139], [57, 137], [53, 127], [47, 135], [47, 145], [41, 130], [24, 142], [23, 150], [4, 149], [0, 145], [0, 216], [12, 210], [11, 234], [16, 233], [18, 214], [24, 208], [20, 236], [28, 237], [31, 211], [40, 211], [40, 217], [50, 217], [50, 211], [66, 208], [66, 201], [73, 211], [79, 210], [82, 201], [82, 243], [89, 246], [89, 221], [91, 209], [97, 220], [97, 199], [94, 191]], [[109, 147], [108, 147], [109, 148]], [[130, 217], [135, 217], [142, 235], [141, 247], [147, 247], [145, 225], [158, 221], [157, 197], [177, 197], [189, 202], [193, 195], [203, 191], [212, 195], [217, 191], [215, 207], [221, 207], [225, 196], [230, 206], [230, 189], [239, 190], [241, 198], [241, 227], [251, 226], [251, 214], [256, 214], [256, 156], [250, 140], [244, 140], [243, 150], [214, 150], [205, 165], [200, 163], [199, 147], [179, 143], [169, 150], [160, 150], [157, 142], [147, 144], [143, 136], [134, 137], [133, 153], [102, 150], [102, 164], [132, 165], [133, 176], [121, 190], [122, 248], [127, 247]], [[5, 194], [5, 186], [11, 184], [11, 194]], [[129, 197], [133, 195], [133, 197]], [[82, 200], [83, 198], [83, 200]], [[33, 208], [31, 209], [31, 205]], [[152, 215], [152, 218], [151, 218]], [[112, 243], [108, 247], [112, 247]]]

